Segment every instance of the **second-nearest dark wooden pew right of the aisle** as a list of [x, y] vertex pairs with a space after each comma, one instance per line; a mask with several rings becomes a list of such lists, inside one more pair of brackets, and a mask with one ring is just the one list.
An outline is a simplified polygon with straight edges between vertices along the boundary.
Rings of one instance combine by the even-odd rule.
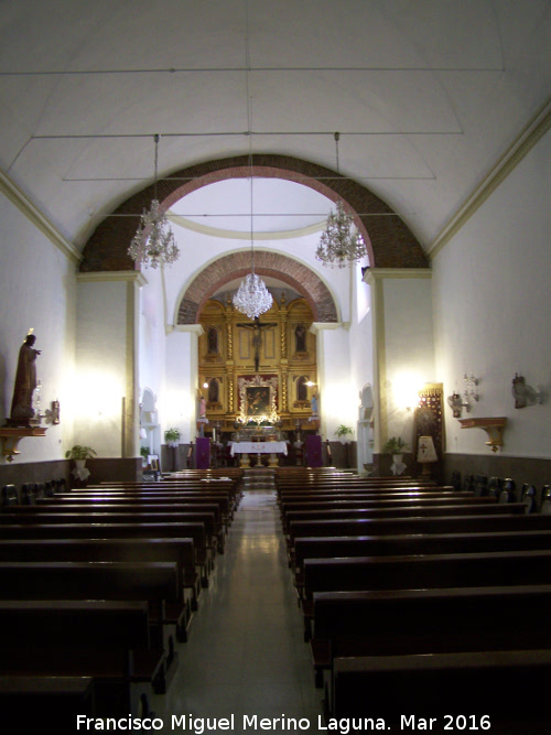
[[551, 631], [533, 624], [550, 612], [545, 584], [318, 593], [316, 683], [325, 671], [331, 710], [331, 669], [339, 657], [551, 649]]

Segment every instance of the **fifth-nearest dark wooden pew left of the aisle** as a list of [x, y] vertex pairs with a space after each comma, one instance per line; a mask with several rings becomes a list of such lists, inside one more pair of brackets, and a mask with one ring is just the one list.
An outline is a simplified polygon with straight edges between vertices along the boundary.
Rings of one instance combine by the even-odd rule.
[[202, 522], [33, 522], [0, 523], [0, 539], [140, 539], [173, 538], [192, 539], [195, 551], [195, 564], [199, 570], [201, 584], [208, 586], [207, 547], [205, 526]]

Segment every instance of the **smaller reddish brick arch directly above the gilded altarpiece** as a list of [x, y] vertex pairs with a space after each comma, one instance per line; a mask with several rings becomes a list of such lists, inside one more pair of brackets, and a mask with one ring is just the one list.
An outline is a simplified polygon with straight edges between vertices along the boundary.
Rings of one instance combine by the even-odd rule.
[[[255, 272], [277, 278], [300, 293], [314, 315], [315, 322], [336, 322], [337, 309], [329, 290], [307, 266], [289, 256], [255, 250]], [[205, 302], [225, 283], [250, 273], [250, 252], [239, 251], [218, 258], [190, 283], [180, 302], [177, 324], [195, 324]]]

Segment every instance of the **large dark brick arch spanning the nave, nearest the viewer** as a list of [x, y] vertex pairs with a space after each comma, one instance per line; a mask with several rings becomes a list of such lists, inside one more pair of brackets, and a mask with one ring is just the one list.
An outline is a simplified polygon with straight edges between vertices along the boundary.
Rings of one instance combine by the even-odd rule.
[[[426, 268], [429, 260], [411, 230], [392, 209], [372, 192], [329, 169], [302, 159], [272, 153], [237, 155], [206, 161], [174, 172], [158, 183], [158, 195], [166, 209], [186, 194], [226, 179], [249, 176], [278, 177], [311, 186], [325, 196], [341, 197], [356, 215], [372, 268]], [[184, 183], [182, 183], [182, 181]], [[134, 270], [127, 250], [138, 228], [139, 218], [149, 207], [153, 185], [130, 196], [106, 217], [88, 239], [80, 263], [82, 271]]]

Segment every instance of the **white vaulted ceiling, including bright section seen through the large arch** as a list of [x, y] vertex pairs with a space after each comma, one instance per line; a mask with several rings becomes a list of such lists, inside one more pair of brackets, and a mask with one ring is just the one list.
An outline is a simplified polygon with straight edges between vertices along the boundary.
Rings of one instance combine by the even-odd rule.
[[[550, 39], [550, 0], [4, 0], [0, 169], [82, 248], [151, 183], [155, 133], [165, 176], [262, 152], [335, 170], [338, 131], [339, 172], [430, 250], [549, 105]], [[173, 210], [247, 229], [239, 186]], [[255, 229], [323, 216], [296, 192], [259, 184]]]

